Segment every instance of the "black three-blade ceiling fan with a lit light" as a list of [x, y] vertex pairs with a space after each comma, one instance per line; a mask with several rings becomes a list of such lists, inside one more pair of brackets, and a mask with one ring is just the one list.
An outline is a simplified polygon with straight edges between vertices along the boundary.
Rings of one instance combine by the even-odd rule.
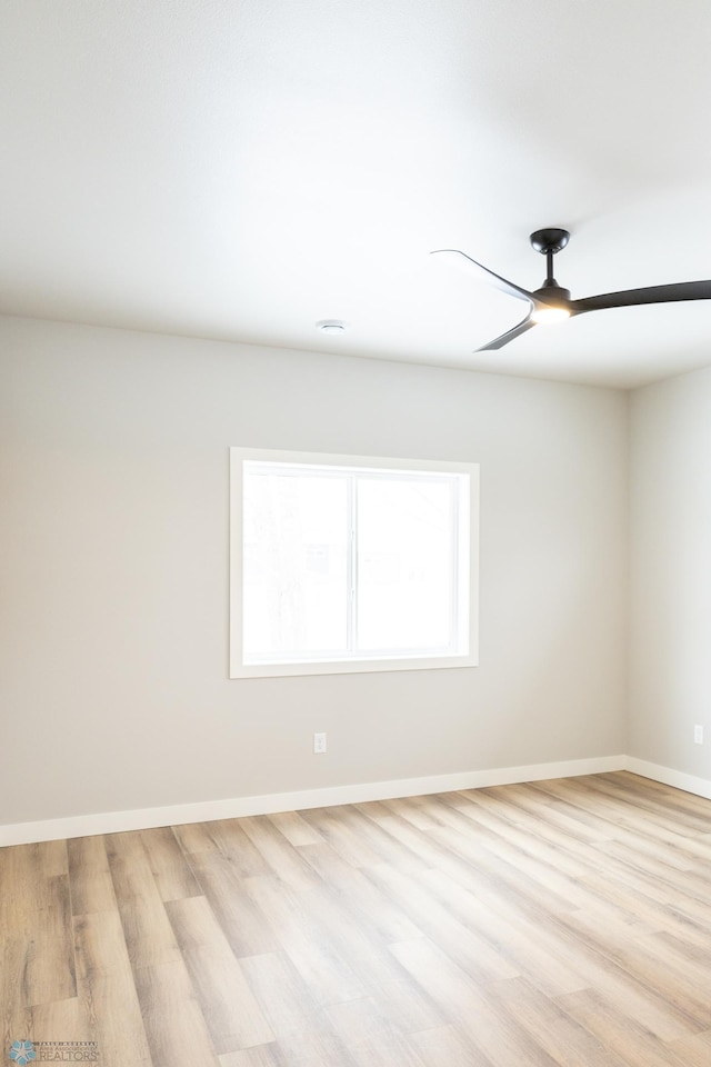
[[582, 315], [584, 311], [601, 311], [603, 308], [632, 308], [642, 303], [670, 303], [675, 300], [711, 300], [711, 281], [681, 281], [670, 286], [648, 286], [644, 289], [623, 289], [620, 292], [603, 292], [597, 297], [583, 297], [581, 300], [570, 299], [570, 289], [563, 289], [553, 278], [553, 256], [565, 248], [570, 240], [568, 230], [561, 230], [557, 227], [548, 227], [543, 230], [535, 230], [531, 233], [531, 245], [537, 252], [545, 256], [545, 281], [540, 289], [529, 292], [520, 286], [508, 281], [500, 275], [494, 275], [482, 263], [465, 252], [454, 248], [439, 248], [432, 255], [461, 256], [473, 267], [483, 271], [489, 282], [515, 297], [517, 300], [525, 300], [529, 305], [529, 312], [511, 330], [507, 330], [501, 337], [494, 338], [488, 345], [478, 348], [478, 352], [491, 351], [497, 348], [503, 348], [509, 341], [531, 330], [534, 326], [542, 322], [557, 322], [561, 319], [568, 319], [573, 315]]

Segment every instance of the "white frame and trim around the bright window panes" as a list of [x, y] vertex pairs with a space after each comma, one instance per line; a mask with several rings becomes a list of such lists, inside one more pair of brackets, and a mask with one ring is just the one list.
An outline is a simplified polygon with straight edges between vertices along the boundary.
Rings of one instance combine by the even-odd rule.
[[[361, 659], [324, 658], [246, 662], [243, 656], [242, 568], [243, 568], [243, 471], [244, 463], [290, 463], [319, 468], [347, 468], [359, 471], [402, 473], [437, 472], [463, 475], [469, 486], [459, 521], [460, 604], [463, 628], [455, 651]], [[234, 447], [230, 449], [230, 678], [266, 678], [292, 675], [354, 674], [382, 670], [431, 670], [478, 666], [479, 589], [479, 465], [422, 459], [393, 459], [373, 456], [342, 456], [321, 452], [292, 452], [277, 449]]]

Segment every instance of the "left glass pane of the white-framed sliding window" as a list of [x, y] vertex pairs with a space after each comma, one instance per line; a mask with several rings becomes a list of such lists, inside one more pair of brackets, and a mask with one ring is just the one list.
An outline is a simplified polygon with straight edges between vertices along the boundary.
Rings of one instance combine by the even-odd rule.
[[347, 648], [347, 482], [244, 472], [247, 660]]

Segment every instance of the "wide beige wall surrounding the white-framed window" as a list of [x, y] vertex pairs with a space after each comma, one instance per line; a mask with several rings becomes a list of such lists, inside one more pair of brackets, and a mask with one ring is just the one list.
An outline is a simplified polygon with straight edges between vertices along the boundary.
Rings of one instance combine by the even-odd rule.
[[[0, 824], [624, 751], [624, 393], [13, 318], [0, 376]], [[228, 680], [230, 445], [481, 463], [481, 666]]]

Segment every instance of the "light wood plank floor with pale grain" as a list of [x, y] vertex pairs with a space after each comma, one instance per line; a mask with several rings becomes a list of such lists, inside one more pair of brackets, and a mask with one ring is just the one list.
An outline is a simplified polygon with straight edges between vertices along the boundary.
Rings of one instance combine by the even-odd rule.
[[629, 774], [0, 849], [4, 1048], [711, 1067], [711, 801]]

